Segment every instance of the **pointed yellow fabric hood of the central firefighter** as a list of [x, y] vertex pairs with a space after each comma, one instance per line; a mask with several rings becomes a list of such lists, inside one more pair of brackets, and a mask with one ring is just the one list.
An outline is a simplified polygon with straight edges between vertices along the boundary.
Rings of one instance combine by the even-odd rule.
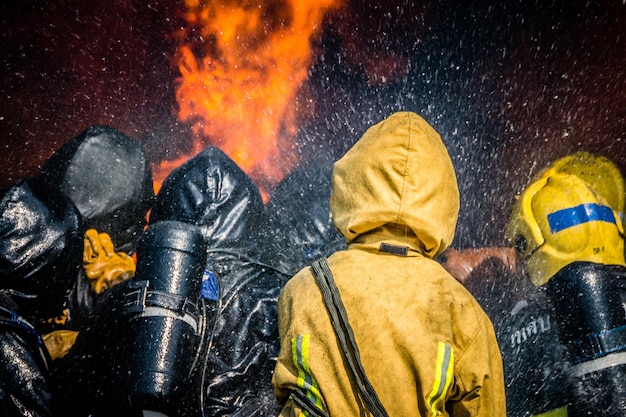
[[441, 137], [412, 112], [369, 128], [333, 168], [330, 208], [348, 243], [390, 241], [434, 258], [452, 242], [459, 204]]

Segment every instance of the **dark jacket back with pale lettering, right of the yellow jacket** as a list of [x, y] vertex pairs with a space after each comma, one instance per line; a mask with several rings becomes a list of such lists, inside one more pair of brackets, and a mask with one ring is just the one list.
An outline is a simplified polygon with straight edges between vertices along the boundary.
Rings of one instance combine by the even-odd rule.
[[504, 365], [508, 417], [529, 417], [571, 404], [572, 376], [546, 294], [499, 259], [465, 283], [491, 319]]

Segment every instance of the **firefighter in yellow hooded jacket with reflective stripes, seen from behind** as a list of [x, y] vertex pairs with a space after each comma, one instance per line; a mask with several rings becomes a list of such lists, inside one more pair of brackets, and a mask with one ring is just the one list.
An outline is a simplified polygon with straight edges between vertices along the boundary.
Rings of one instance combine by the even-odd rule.
[[[411, 112], [368, 129], [335, 163], [330, 208], [348, 248], [328, 264], [387, 415], [505, 416], [493, 326], [433, 260], [450, 245], [459, 210], [439, 134]], [[278, 308], [281, 415], [370, 415], [311, 268], [286, 284]]]

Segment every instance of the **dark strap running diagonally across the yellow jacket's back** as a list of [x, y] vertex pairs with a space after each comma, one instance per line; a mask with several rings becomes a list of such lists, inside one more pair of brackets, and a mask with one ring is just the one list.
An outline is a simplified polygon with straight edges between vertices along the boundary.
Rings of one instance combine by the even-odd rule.
[[383, 407], [378, 399], [378, 395], [376, 395], [376, 391], [367, 379], [363, 365], [361, 365], [359, 348], [356, 345], [352, 328], [348, 322], [348, 314], [341, 301], [339, 289], [335, 285], [333, 274], [328, 267], [326, 258], [321, 258], [313, 262], [311, 268], [313, 269], [313, 275], [324, 297], [324, 303], [326, 304], [330, 321], [332, 322], [335, 334], [339, 340], [339, 345], [343, 350], [344, 357], [352, 371], [352, 375], [361, 392], [365, 405], [375, 417], [388, 417], [385, 407]]

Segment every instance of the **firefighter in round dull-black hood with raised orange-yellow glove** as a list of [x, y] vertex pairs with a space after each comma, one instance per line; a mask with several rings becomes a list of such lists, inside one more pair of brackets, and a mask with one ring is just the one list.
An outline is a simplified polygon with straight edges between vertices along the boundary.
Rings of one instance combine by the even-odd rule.
[[39, 178], [72, 200], [90, 231], [85, 236], [85, 269], [72, 290], [69, 315], [59, 319], [62, 325], [51, 327], [78, 331], [87, 325], [98, 294], [129, 276], [117, 274], [106, 282], [113, 277], [101, 274], [102, 262], [111, 261], [107, 254], [115, 253], [118, 266], [123, 264], [127, 272], [133, 269], [128, 257], [136, 250], [154, 200], [150, 164], [137, 141], [115, 128], [94, 125], [57, 149]]

